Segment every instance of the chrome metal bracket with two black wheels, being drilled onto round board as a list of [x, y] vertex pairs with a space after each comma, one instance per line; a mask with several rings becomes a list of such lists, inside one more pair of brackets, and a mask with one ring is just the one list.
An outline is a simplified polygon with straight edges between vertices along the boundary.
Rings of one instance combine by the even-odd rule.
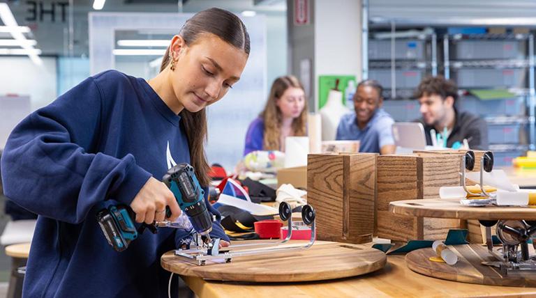
[[[271, 253], [280, 253], [288, 251], [299, 251], [308, 249], [315, 242], [315, 217], [316, 213], [311, 205], [304, 205], [301, 209], [301, 219], [304, 224], [311, 226], [311, 239], [305, 245], [281, 246], [292, 237], [292, 216], [290, 206], [287, 203], [281, 203], [279, 207], [279, 216], [283, 221], [288, 221], [288, 235], [285, 240], [278, 242], [262, 242], [254, 244], [238, 244], [218, 249], [218, 245], [208, 246], [206, 242], [195, 241], [196, 249], [177, 249], [175, 255], [190, 260], [195, 260], [198, 265], [205, 265], [207, 260], [224, 259], [225, 262], [231, 262], [232, 258], [240, 256], [269, 255]], [[242, 249], [246, 246], [258, 246], [254, 249]]]

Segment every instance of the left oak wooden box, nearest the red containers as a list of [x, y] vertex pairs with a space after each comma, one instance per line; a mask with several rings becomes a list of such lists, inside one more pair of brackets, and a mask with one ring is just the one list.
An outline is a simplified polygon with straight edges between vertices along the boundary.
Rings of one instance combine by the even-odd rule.
[[308, 155], [307, 202], [316, 210], [318, 240], [371, 242], [377, 156], [375, 153]]

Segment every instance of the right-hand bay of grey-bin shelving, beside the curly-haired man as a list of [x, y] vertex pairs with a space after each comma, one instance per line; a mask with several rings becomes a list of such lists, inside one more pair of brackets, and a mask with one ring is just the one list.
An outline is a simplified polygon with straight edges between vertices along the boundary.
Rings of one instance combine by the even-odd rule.
[[[462, 90], [459, 109], [488, 123], [489, 149], [497, 166], [535, 148], [534, 47], [531, 34], [445, 35], [444, 75]], [[479, 100], [463, 90], [505, 88], [510, 98]]]

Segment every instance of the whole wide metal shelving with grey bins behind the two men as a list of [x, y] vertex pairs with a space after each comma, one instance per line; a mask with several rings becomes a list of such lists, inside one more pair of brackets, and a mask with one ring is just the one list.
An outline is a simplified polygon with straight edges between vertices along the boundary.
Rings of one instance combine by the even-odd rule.
[[[516, 26], [486, 23], [486, 19], [385, 19], [364, 22], [368, 51], [363, 59], [364, 78], [378, 79], [387, 88], [384, 108], [396, 121], [419, 118], [419, 103], [412, 99], [413, 91], [425, 75], [444, 75], [456, 81], [461, 100], [458, 108], [477, 113], [489, 125], [490, 148], [496, 154], [498, 166], [512, 165], [512, 159], [536, 149], [535, 121], [535, 60], [534, 36], [536, 19], [517, 22], [528, 33], [508, 34], [449, 34], [453, 27], [502, 26], [512, 31]], [[397, 38], [408, 31], [430, 28], [433, 34], [419, 39], [422, 45], [415, 51], [404, 51], [404, 42]], [[391, 38], [377, 42], [377, 31], [390, 33]], [[402, 33], [400, 33], [402, 32]], [[383, 37], [387, 36], [384, 34]], [[390, 52], [387, 51], [388, 45]], [[379, 45], [381, 44], [381, 45]], [[382, 50], [378, 47], [382, 47]], [[377, 52], [374, 52], [377, 51]], [[374, 52], [374, 53], [373, 53]], [[387, 53], [391, 54], [387, 56]], [[411, 73], [411, 71], [417, 71]], [[413, 81], [404, 77], [412, 77]], [[390, 77], [390, 79], [389, 79]], [[418, 78], [418, 79], [417, 79]], [[394, 84], [392, 84], [394, 82]], [[515, 95], [496, 100], [479, 100], [471, 89], [508, 89]]]

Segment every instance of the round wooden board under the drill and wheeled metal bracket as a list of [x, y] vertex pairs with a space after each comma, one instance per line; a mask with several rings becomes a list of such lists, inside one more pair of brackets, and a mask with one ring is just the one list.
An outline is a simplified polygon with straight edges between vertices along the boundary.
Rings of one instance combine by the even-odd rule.
[[[285, 245], [299, 244], [304, 242], [291, 241]], [[230, 263], [223, 262], [223, 259], [207, 261], [204, 266], [174, 256], [174, 251], [169, 251], [162, 256], [161, 265], [170, 272], [202, 279], [287, 283], [358, 276], [381, 269], [386, 260], [385, 253], [370, 246], [315, 242], [303, 251], [237, 257]]]

